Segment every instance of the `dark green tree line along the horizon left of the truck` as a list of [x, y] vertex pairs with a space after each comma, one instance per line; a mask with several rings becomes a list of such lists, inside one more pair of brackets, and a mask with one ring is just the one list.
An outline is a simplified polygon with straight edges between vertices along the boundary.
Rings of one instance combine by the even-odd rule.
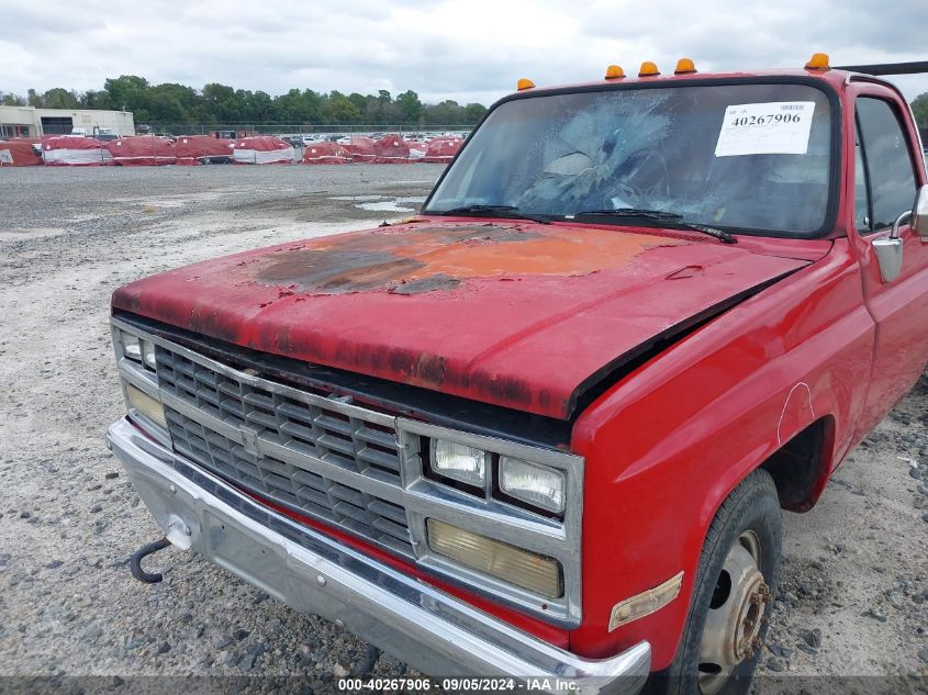
[[271, 97], [264, 91], [234, 89], [211, 82], [202, 89], [165, 82], [152, 85], [144, 77], [109, 78], [101, 90], [77, 92], [62, 87], [23, 97], [0, 91], [0, 103], [43, 109], [103, 109], [131, 111], [137, 124], [384, 124], [470, 125], [487, 112], [479, 103], [459, 104], [445, 100], [423, 103], [412, 90], [393, 97], [381, 89], [376, 94], [344, 94], [291, 89]]

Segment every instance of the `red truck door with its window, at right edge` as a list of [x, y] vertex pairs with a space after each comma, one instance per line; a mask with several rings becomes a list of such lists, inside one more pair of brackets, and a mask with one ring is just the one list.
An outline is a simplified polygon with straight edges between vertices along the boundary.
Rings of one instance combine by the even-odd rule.
[[868, 82], [858, 83], [854, 91], [854, 228], [850, 236], [861, 264], [864, 303], [876, 324], [859, 433], [863, 436], [915, 385], [925, 369], [928, 244], [908, 224], [902, 225], [902, 271], [894, 280], [883, 280], [873, 240], [888, 237], [896, 218], [912, 210], [926, 175], [915, 154], [918, 138], [896, 92]]

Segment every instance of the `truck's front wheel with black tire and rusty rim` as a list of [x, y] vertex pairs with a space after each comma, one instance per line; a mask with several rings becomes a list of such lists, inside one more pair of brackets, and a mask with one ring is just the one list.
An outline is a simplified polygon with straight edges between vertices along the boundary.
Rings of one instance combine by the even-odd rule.
[[[677, 657], [666, 671], [651, 676], [648, 693], [743, 695], [748, 692], [767, 636], [769, 606], [776, 595], [781, 538], [776, 486], [770, 473], [756, 470], [722, 503], [709, 526]], [[760, 585], [745, 552], [754, 559]], [[743, 581], [733, 581], [733, 574]], [[725, 616], [731, 618], [723, 619]], [[741, 616], [746, 616], [743, 620]], [[749, 620], [750, 631], [746, 628]], [[720, 625], [743, 629], [745, 638], [738, 639], [740, 631], [717, 629]], [[736, 653], [736, 643], [748, 642], [747, 649]], [[717, 655], [723, 659], [715, 659]], [[728, 659], [727, 664], [724, 658]], [[738, 658], [741, 660], [733, 665]]]

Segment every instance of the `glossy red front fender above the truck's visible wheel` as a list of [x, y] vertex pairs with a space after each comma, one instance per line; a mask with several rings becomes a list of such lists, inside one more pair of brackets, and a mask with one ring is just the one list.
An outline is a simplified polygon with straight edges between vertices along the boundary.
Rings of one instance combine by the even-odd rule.
[[[578, 418], [572, 449], [586, 457], [584, 621], [572, 650], [605, 655], [647, 639], [652, 668], [670, 664], [718, 506], [817, 418], [834, 419], [825, 457], [847, 452], [873, 344], [859, 267], [838, 239], [824, 259], [686, 336]], [[672, 603], [608, 632], [616, 603], [681, 570]]]

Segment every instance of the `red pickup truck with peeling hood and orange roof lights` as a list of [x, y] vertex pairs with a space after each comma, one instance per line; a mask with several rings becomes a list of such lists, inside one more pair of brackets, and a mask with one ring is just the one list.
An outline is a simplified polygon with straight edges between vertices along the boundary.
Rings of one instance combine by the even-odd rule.
[[743, 691], [781, 509], [928, 360], [926, 183], [823, 56], [523, 80], [413, 220], [119, 289], [109, 442], [157, 547], [425, 673]]

